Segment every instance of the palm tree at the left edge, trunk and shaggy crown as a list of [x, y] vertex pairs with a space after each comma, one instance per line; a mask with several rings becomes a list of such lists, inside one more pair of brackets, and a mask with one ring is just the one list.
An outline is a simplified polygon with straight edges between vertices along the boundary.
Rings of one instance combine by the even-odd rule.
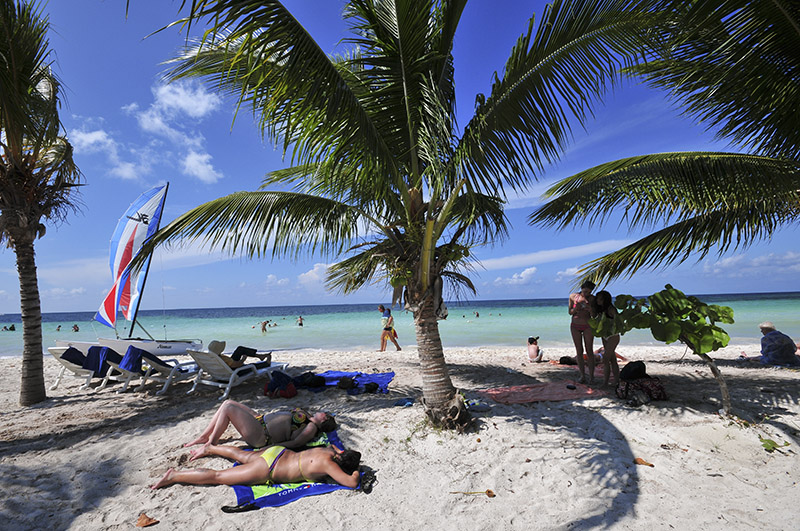
[[22, 314], [20, 404], [46, 398], [42, 310], [33, 243], [45, 220], [74, 209], [80, 172], [58, 119], [49, 23], [36, 2], [0, 2], [0, 242], [14, 249]]

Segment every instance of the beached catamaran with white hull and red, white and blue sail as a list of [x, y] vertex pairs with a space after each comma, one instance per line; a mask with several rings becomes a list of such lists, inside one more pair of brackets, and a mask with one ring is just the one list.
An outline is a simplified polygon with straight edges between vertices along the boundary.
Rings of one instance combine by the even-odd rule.
[[[72, 346], [86, 352], [92, 345], [102, 345], [124, 354], [128, 346], [134, 345], [157, 356], [185, 354], [189, 348], [202, 349], [199, 339], [157, 340], [136, 320], [150, 268], [150, 257], [136, 272], [132, 272], [128, 266], [141, 251], [144, 242], [158, 230], [168, 188], [169, 184], [157, 186], [139, 196], [120, 218], [111, 238], [110, 266], [114, 285], [103, 299], [94, 320], [113, 328], [116, 337], [98, 338], [96, 343], [56, 340], [56, 346]], [[121, 338], [117, 332], [117, 313], [131, 323], [127, 338]], [[146, 338], [132, 337], [137, 325], [147, 335]]]

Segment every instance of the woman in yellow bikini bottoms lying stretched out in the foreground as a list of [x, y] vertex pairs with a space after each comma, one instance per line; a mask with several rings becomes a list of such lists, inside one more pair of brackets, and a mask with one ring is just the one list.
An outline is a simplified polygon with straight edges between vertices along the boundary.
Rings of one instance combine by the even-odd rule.
[[256, 452], [248, 452], [235, 446], [209, 444], [202, 454], [217, 455], [233, 459], [240, 466], [225, 470], [196, 468], [175, 470], [170, 468], [152, 489], [160, 489], [174, 483], [191, 485], [260, 485], [263, 483], [318, 482], [330, 477], [340, 485], [352, 489], [358, 487], [358, 465], [361, 454], [354, 450], [341, 451], [333, 446], [312, 448], [293, 452], [282, 446], [270, 446]]

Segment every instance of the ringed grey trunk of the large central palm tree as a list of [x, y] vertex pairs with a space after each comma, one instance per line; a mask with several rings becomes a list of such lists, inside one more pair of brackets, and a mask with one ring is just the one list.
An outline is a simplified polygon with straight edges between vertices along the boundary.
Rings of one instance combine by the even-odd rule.
[[428, 297], [422, 302], [414, 314], [414, 325], [422, 369], [425, 413], [437, 426], [463, 431], [472, 424], [472, 417], [450, 380], [432, 298]]

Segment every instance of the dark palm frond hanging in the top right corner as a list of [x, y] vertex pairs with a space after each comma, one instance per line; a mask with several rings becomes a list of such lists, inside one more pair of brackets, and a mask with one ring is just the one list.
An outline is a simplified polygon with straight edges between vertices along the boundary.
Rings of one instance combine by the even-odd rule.
[[633, 72], [718, 138], [800, 159], [800, 4], [665, 1], [666, 48]]

